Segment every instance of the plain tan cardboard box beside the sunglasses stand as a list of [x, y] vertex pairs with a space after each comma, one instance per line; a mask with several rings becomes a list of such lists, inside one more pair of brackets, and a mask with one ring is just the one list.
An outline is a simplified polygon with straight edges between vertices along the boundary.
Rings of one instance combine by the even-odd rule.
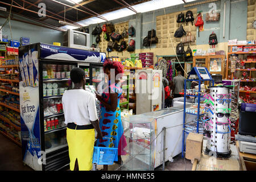
[[189, 133], [186, 140], [185, 158], [189, 160], [200, 160], [203, 148], [203, 135]]

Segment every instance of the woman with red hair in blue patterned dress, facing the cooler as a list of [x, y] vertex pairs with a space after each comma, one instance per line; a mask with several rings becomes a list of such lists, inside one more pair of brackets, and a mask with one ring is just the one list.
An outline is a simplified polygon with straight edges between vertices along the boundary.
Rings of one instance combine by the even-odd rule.
[[[110, 79], [110, 71], [115, 71], [115, 80], [118, 74], [123, 73], [123, 65], [117, 61], [107, 59], [104, 63], [104, 73]], [[118, 75], [120, 76], [120, 75]], [[96, 146], [98, 147], [115, 147], [118, 148], [118, 154], [114, 161], [122, 164], [121, 155], [126, 155], [123, 148], [126, 147], [126, 139], [123, 135], [123, 127], [121, 121], [121, 111], [119, 107], [119, 100], [122, 95], [122, 85], [119, 80], [115, 80], [108, 84], [100, 95], [96, 97], [101, 102], [100, 113], [100, 129], [103, 139], [98, 139]], [[104, 165], [104, 170], [108, 170], [108, 166]]]

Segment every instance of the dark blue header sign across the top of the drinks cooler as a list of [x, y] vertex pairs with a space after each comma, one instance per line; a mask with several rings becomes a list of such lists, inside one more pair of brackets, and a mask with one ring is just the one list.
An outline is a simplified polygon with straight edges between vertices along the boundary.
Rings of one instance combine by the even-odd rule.
[[70, 47], [53, 46], [40, 43], [40, 57], [42, 59], [82, 61], [101, 63], [106, 59], [106, 53], [86, 51]]

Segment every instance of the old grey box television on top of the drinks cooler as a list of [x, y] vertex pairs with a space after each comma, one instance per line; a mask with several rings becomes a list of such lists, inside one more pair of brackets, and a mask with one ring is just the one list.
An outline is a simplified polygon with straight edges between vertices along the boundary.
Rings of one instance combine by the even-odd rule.
[[88, 51], [100, 51], [98, 48], [90, 47], [90, 34], [76, 30], [68, 30], [64, 33], [63, 46]]

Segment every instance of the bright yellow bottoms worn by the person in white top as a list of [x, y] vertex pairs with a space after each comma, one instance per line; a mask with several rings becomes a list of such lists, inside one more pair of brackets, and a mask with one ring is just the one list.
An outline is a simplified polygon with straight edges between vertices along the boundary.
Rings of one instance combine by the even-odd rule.
[[76, 159], [79, 171], [90, 171], [92, 169], [94, 138], [94, 129], [72, 130], [67, 128], [69, 166], [71, 171], [75, 168]]

